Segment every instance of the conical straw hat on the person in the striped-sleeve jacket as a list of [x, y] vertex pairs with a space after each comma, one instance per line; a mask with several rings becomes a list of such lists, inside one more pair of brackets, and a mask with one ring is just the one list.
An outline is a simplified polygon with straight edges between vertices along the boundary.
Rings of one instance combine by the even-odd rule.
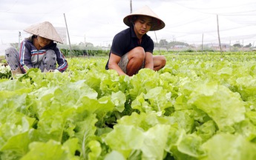
[[60, 38], [59, 34], [53, 27], [49, 21], [45, 21], [39, 24], [33, 24], [30, 27], [24, 29], [27, 33], [31, 33], [36, 36], [42, 36], [45, 39], [50, 39], [53, 41], [58, 41], [59, 43], [63, 44], [62, 39]]

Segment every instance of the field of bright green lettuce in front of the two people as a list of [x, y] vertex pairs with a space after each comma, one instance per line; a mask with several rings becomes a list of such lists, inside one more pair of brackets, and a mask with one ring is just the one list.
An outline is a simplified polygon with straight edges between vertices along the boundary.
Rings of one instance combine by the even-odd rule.
[[255, 52], [166, 59], [133, 77], [106, 57], [3, 76], [0, 159], [255, 160]]

